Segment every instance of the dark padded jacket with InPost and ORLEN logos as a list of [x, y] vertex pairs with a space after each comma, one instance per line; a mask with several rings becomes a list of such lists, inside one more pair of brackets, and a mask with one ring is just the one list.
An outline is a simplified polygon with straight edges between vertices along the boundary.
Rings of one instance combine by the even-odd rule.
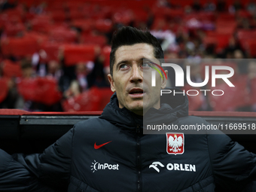
[[[163, 104], [154, 117], [179, 126], [206, 123], [187, 116], [187, 98], [171, 100], [173, 108]], [[184, 135], [184, 153], [168, 154], [166, 135], [143, 135], [142, 117], [118, 108], [117, 102], [114, 94], [99, 118], [76, 123], [43, 154], [14, 158], [44, 184], [69, 184], [69, 191], [209, 192], [215, 191], [215, 184], [240, 191], [254, 179], [255, 155], [228, 136]], [[19, 172], [8, 166], [13, 169]], [[9, 178], [5, 173], [5, 166], [0, 166], [0, 191], [17, 190], [8, 181], [18, 180], [19, 174]]]

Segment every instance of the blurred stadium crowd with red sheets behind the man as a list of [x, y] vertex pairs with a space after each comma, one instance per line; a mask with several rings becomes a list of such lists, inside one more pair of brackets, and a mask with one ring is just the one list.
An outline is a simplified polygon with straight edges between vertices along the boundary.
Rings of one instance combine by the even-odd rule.
[[166, 59], [190, 60], [194, 82], [206, 65], [235, 69], [236, 89], [220, 82], [224, 97], [190, 97], [190, 110], [256, 111], [254, 0], [1, 0], [0, 12], [0, 108], [102, 110], [111, 36], [136, 26], [151, 30]]

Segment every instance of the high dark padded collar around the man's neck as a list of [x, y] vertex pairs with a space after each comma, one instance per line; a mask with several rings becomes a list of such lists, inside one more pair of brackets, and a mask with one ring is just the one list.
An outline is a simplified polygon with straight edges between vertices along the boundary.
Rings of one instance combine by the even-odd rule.
[[[176, 91], [181, 92], [181, 90]], [[142, 117], [126, 108], [119, 108], [117, 95], [114, 93], [99, 118], [108, 120], [116, 126], [131, 129], [138, 125], [142, 126], [143, 120], [146, 120], [147, 123], [153, 123], [156, 120], [162, 123], [170, 123], [179, 117], [185, 117], [187, 115], [188, 99], [187, 96], [183, 96], [182, 94], [176, 94], [175, 96], [172, 94], [163, 94], [161, 96], [160, 109], [151, 108]]]

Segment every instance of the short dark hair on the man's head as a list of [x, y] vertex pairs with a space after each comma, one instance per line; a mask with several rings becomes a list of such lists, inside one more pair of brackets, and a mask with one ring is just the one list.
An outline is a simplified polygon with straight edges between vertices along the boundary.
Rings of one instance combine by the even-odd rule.
[[150, 44], [154, 47], [154, 57], [163, 59], [163, 49], [160, 42], [148, 30], [142, 31], [131, 26], [123, 26], [114, 33], [111, 40], [110, 74], [113, 77], [113, 66], [116, 50], [123, 45]]

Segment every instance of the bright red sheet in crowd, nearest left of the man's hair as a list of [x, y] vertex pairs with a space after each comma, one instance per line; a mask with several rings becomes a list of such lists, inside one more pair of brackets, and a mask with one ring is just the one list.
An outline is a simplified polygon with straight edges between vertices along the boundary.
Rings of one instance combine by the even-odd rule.
[[96, 45], [65, 45], [64, 58], [66, 66], [73, 66], [78, 62], [94, 61]]

